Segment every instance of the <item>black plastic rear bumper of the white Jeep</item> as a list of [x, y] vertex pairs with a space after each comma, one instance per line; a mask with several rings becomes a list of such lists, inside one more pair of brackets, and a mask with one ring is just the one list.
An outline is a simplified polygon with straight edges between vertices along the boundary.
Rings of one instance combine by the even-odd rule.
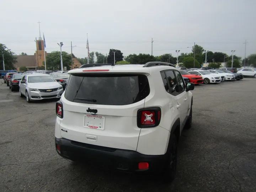
[[[60, 152], [57, 150], [57, 145], [60, 146]], [[55, 137], [55, 148], [57, 153], [66, 159], [88, 162], [99, 167], [124, 172], [161, 172], [167, 161], [167, 153], [143, 155], [137, 151], [80, 143], [65, 138]], [[139, 170], [139, 162], [148, 162], [149, 168]]]

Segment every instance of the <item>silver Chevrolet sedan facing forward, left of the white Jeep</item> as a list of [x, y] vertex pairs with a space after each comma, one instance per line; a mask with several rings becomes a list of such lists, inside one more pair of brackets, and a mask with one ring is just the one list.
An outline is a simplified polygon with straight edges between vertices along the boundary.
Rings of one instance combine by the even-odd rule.
[[63, 87], [47, 74], [27, 74], [19, 82], [20, 96], [27, 102], [48, 98], [60, 98]]

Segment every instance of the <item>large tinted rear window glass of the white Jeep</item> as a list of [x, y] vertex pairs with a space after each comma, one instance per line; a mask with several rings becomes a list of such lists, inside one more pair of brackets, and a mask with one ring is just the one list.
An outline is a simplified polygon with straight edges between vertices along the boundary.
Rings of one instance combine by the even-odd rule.
[[98, 105], [129, 105], [149, 95], [145, 75], [71, 75], [65, 98], [71, 102]]

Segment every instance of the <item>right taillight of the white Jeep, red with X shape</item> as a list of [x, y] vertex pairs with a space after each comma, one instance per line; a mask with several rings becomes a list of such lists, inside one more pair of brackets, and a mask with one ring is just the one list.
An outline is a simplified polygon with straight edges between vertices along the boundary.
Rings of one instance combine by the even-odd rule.
[[156, 127], [161, 119], [161, 109], [159, 107], [150, 107], [140, 109], [137, 112], [137, 126], [139, 128]]

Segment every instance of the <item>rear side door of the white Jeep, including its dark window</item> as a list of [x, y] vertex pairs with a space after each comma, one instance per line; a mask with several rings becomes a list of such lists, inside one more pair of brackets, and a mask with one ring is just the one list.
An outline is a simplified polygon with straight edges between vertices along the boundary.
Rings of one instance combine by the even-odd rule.
[[162, 80], [166, 80], [167, 84], [165, 84], [166, 91], [170, 94], [170, 106], [174, 106], [177, 108], [179, 114], [180, 114], [180, 122], [181, 127], [183, 127], [183, 121], [185, 120], [185, 106], [184, 106], [184, 99], [185, 94], [183, 92], [180, 92], [178, 89], [178, 80], [176, 79], [174, 70], [167, 70], [164, 72], [161, 72]]

